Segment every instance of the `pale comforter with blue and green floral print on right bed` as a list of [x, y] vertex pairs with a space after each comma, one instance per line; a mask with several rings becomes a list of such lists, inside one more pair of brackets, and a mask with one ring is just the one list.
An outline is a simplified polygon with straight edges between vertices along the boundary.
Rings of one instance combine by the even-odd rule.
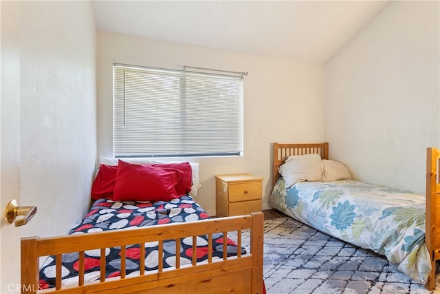
[[269, 204], [335, 238], [385, 255], [415, 282], [431, 270], [425, 245], [425, 197], [355, 180], [278, 180]]

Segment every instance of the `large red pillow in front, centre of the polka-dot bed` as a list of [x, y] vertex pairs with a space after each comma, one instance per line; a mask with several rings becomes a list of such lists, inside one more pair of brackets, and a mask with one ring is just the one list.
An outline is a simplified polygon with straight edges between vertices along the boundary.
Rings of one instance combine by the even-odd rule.
[[181, 171], [151, 165], [135, 165], [118, 160], [113, 200], [168, 201], [177, 198]]

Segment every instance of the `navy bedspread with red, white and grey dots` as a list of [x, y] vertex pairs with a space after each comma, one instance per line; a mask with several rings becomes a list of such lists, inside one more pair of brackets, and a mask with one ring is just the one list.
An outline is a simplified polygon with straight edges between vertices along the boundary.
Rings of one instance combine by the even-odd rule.
[[[98, 199], [80, 224], [69, 234], [111, 231], [115, 229], [133, 229], [133, 227], [153, 226], [169, 222], [192, 222], [209, 218], [208, 214], [190, 196], [182, 196], [168, 202], [115, 202]], [[175, 240], [164, 241], [163, 266], [174, 267], [176, 264]], [[228, 256], [236, 255], [236, 243], [228, 238]], [[192, 237], [181, 239], [180, 265], [192, 263]], [[158, 242], [145, 244], [145, 260], [140, 262], [140, 245], [126, 246], [126, 275], [139, 273], [139, 264], [145, 271], [158, 269]], [[245, 254], [245, 250], [241, 249]], [[120, 276], [120, 247], [107, 248], [106, 276]], [[208, 258], [208, 237], [197, 236], [197, 262]], [[223, 258], [223, 234], [212, 235], [212, 258]], [[78, 253], [67, 253], [62, 256], [63, 285], [78, 285]], [[50, 256], [40, 269], [41, 288], [55, 286], [56, 263]], [[85, 282], [93, 282], [100, 278], [100, 250], [85, 251]]]

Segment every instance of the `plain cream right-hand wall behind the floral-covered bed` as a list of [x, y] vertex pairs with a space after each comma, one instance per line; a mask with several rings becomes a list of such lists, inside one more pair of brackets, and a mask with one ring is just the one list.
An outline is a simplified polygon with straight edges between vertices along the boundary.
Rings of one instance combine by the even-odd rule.
[[425, 191], [439, 147], [439, 2], [394, 1], [326, 66], [330, 158], [355, 178]]

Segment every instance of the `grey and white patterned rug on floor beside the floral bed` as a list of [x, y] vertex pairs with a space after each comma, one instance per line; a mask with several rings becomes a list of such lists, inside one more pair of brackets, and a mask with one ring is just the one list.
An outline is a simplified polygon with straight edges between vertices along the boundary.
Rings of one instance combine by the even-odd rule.
[[[285, 217], [265, 220], [267, 294], [440, 293], [413, 283], [395, 264]], [[439, 270], [437, 270], [439, 272]]]

